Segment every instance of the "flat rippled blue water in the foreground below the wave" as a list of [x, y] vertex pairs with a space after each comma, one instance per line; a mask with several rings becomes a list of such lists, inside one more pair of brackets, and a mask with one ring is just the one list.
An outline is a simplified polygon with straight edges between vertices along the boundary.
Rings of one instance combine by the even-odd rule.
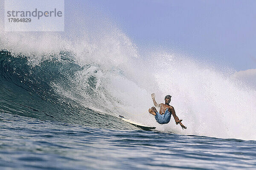
[[120, 127], [92, 128], [1, 113], [3, 170], [241, 170], [256, 167], [256, 141]]

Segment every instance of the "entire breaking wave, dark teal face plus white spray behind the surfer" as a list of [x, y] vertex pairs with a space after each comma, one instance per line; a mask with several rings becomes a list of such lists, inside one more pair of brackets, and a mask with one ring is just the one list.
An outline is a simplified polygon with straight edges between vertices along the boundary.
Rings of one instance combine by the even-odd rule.
[[[256, 140], [256, 91], [231, 68], [163, 50], [142, 54], [111, 24], [79, 35], [0, 32], [0, 111], [111, 128], [125, 126], [122, 114], [157, 130]], [[157, 102], [172, 95], [188, 129], [173, 119], [158, 125], [147, 113], [151, 93]]]

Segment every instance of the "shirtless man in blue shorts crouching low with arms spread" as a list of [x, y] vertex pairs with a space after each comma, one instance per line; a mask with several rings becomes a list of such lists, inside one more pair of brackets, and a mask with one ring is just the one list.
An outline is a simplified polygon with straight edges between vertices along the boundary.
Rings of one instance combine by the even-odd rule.
[[155, 107], [152, 107], [152, 108], [148, 109], [148, 112], [155, 116], [155, 119], [157, 120], [157, 123], [159, 123], [159, 124], [169, 123], [170, 119], [171, 119], [171, 115], [172, 115], [175, 119], [176, 125], [180, 124], [182, 129], [187, 128], [186, 126], [184, 126], [181, 123], [182, 119], [179, 119], [178, 116], [176, 116], [174, 108], [171, 105], [169, 105], [169, 103], [171, 102], [171, 97], [172, 96], [170, 96], [170, 95], [165, 96], [165, 98], [164, 98], [165, 104], [163, 104], [163, 103], [157, 104], [157, 102], [155, 100], [154, 93], [151, 94], [151, 97], [153, 99], [154, 106], [155, 107], [160, 107], [159, 112], [157, 112], [157, 109]]

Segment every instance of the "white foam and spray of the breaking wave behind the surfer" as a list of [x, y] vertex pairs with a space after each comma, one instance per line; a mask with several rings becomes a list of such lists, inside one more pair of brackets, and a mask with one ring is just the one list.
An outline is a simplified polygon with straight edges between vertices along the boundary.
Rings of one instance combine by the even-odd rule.
[[[218, 71], [218, 66], [208, 62], [163, 51], [143, 56], [140, 54], [143, 49], [137, 49], [115, 26], [95, 22], [92, 25], [100, 25], [99, 30], [87, 29], [82, 26], [85, 22], [81, 18], [76, 18], [81, 26], [75, 25], [64, 34], [2, 31], [1, 49], [26, 56], [30, 65], [40, 65], [45, 59], [58, 57], [60, 51], [70, 51], [77, 64], [87, 69], [70, 78], [71, 89], [61, 84], [53, 84], [53, 87], [56, 92], [89, 108], [114, 116], [122, 113], [136, 122], [157, 126], [158, 130], [256, 140], [255, 91], [230, 78], [232, 70]], [[92, 18], [87, 16], [87, 27], [90, 20]], [[77, 31], [74, 33], [74, 30]], [[93, 94], [86, 88], [91, 76], [97, 80]], [[153, 92], [157, 102], [163, 102], [167, 94], [172, 95], [170, 104], [187, 130], [175, 125], [173, 118], [169, 124], [159, 125], [146, 113], [153, 105]], [[133, 114], [113, 110], [115, 106]]]

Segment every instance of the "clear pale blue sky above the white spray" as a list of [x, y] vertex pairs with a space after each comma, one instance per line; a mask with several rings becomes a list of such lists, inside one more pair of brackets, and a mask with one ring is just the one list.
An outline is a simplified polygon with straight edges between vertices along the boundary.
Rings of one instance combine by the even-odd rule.
[[238, 71], [256, 68], [256, 0], [76, 2], [111, 18], [140, 46], [161, 45], [224, 60]]

